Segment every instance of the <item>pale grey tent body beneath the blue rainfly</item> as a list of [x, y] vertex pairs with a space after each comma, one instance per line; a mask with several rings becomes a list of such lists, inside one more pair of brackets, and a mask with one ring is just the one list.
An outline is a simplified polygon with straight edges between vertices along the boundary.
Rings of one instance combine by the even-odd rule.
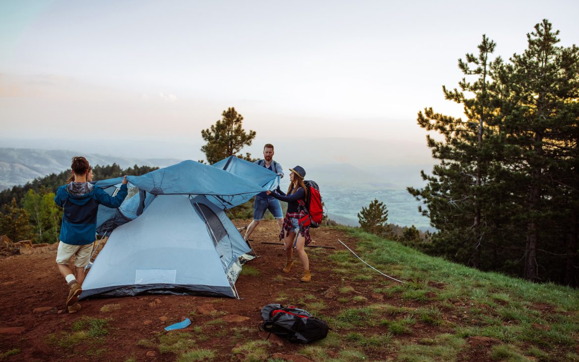
[[109, 236], [80, 299], [141, 294], [236, 297], [254, 258], [227, 215], [204, 195], [156, 195]]

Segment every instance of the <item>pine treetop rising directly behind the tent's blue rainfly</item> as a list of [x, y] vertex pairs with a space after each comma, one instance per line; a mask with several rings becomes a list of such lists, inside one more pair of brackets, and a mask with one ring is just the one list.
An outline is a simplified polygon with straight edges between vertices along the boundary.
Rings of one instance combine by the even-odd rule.
[[238, 114], [235, 108], [230, 107], [223, 111], [222, 119], [206, 130], [201, 130], [201, 137], [207, 144], [201, 147], [206, 155], [207, 162], [214, 164], [224, 158], [236, 155], [239, 158], [252, 160], [250, 153], [245, 156], [237, 154], [244, 146], [251, 146], [255, 138], [255, 131], [245, 133], [243, 129], [243, 116]]

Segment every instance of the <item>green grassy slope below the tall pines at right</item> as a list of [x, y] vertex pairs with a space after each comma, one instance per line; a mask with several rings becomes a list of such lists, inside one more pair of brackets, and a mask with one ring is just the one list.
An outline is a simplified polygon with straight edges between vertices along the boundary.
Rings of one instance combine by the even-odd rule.
[[[356, 346], [360, 356], [371, 356], [380, 345], [391, 350], [397, 361], [579, 361], [578, 290], [481, 272], [360, 229], [341, 229], [359, 239], [355, 251], [362, 259], [406, 281], [391, 281], [367, 267], [360, 270], [361, 262], [349, 251], [331, 255], [343, 280], [376, 280], [375, 292], [400, 301], [351, 308], [350, 295], [345, 293], [345, 308], [327, 319], [334, 333]], [[428, 326], [426, 337], [415, 329], [418, 324]], [[389, 334], [364, 332], [379, 325], [387, 326]], [[360, 332], [347, 332], [351, 328]], [[416, 334], [421, 336], [401, 338]], [[324, 360], [320, 357], [314, 360]]]

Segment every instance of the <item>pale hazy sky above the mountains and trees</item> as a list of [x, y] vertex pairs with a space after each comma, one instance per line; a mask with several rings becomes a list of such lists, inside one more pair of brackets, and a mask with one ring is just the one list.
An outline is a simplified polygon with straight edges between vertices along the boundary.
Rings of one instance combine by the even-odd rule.
[[199, 144], [234, 106], [260, 140], [425, 147], [417, 111], [460, 115], [441, 86], [482, 34], [508, 58], [547, 18], [571, 45], [577, 14], [576, 0], [1, 0], [0, 137]]

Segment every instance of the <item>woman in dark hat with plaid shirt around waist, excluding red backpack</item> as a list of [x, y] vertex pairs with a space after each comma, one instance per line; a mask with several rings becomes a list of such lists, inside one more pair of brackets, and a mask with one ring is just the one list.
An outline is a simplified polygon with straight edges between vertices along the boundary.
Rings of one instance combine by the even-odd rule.
[[312, 275], [310, 275], [310, 262], [307, 258], [305, 246], [312, 241], [312, 237], [310, 237], [310, 227], [299, 226], [298, 222], [306, 214], [305, 210], [299, 207], [299, 200], [305, 203], [307, 199], [307, 188], [303, 183], [306, 171], [301, 166], [295, 166], [290, 171], [290, 187], [287, 194], [278, 188], [277, 191], [279, 193], [267, 191], [267, 195], [272, 195], [274, 198], [288, 203], [288, 211], [285, 214], [284, 226], [280, 233], [280, 240], [284, 240], [285, 255], [287, 256], [287, 263], [283, 272], [289, 273], [292, 266], [294, 266], [294, 259], [292, 258], [294, 239], [296, 233], [299, 232], [295, 251], [298, 253], [299, 261], [303, 265], [303, 277], [301, 280], [308, 282], [312, 280]]

